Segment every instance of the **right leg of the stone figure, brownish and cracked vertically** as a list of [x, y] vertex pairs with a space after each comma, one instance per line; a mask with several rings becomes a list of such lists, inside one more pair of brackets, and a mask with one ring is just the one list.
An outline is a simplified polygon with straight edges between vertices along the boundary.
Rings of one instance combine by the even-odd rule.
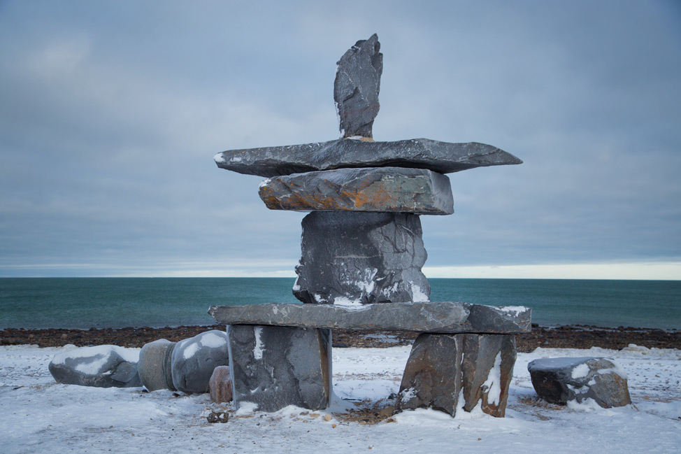
[[516, 356], [514, 336], [421, 334], [404, 369], [395, 411], [432, 408], [456, 416], [457, 410], [480, 406], [503, 418]]

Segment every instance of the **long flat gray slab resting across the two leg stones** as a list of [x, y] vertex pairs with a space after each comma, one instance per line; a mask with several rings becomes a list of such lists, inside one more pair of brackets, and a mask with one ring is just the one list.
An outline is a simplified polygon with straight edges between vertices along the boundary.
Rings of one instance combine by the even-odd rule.
[[[211, 306], [208, 313], [224, 325], [271, 325], [302, 328], [333, 328], [438, 333], [482, 332], [511, 334], [529, 332], [530, 308], [505, 311], [486, 306], [489, 320], [471, 319], [471, 308], [479, 304], [460, 302], [366, 304], [347, 308], [332, 304], [251, 304]], [[500, 322], [503, 320], [503, 322]], [[499, 327], [494, 330], [494, 326]]]

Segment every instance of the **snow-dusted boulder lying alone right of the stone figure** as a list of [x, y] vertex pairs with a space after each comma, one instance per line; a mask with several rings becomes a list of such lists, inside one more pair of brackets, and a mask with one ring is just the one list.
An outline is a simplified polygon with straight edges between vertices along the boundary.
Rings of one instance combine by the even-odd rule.
[[603, 357], [560, 357], [527, 364], [539, 397], [565, 405], [594, 399], [604, 408], [631, 404], [626, 373], [615, 361]]

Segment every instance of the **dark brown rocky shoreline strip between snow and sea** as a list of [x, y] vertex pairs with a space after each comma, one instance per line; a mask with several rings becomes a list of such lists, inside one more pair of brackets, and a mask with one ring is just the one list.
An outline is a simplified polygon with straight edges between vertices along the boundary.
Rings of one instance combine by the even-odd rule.
[[[180, 327], [126, 327], [83, 329], [24, 329], [0, 330], [0, 345], [33, 344], [40, 347], [59, 347], [67, 344], [94, 346], [113, 344], [122, 347], [141, 347], [157, 339], [180, 341], [209, 329], [224, 329], [223, 325]], [[409, 345], [416, 339], [415, 332], [352, 332], [334, 329], [334, 347], [385, 348]], [[532, 332], [516, 334], [517, 350], [531, 352], [543, 348], [601, 347], [620, 350], [630, 343], [647, 348], [681, 349], [681, 330], [665, 331], [646, 328], [603, 328], [586, 325], [540, 327], [532, 325]]]

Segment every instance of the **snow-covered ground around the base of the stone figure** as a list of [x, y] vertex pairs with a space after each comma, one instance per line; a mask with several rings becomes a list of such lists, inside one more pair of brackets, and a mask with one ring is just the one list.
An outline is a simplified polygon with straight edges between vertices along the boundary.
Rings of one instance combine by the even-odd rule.
[[[232, 413], [229, 405], [211, 404], [208, 395], [59, 385], [48, 363], [68, 348], [0, 347], [1, 453], [622, 454], [681, 449], [681, 350], [540, 348], [518, 355], [506, 418], [462, 411], [450, 418], [418, 410], [368, 425], [343, 407], [389, 404], [381, 399], [397, 392], [410, 347], [336, 348], [334, 391], [340, 399], [334, 407], [320, 412], [288, 407], [278, 413]], [[564, 356], [615, 358], [629, 376], [633, 405], [565, 408], [538, 402], [527, 363]], [[230, 410], [228, 423], [207, 422], [206, 416], [218, 409]]]

